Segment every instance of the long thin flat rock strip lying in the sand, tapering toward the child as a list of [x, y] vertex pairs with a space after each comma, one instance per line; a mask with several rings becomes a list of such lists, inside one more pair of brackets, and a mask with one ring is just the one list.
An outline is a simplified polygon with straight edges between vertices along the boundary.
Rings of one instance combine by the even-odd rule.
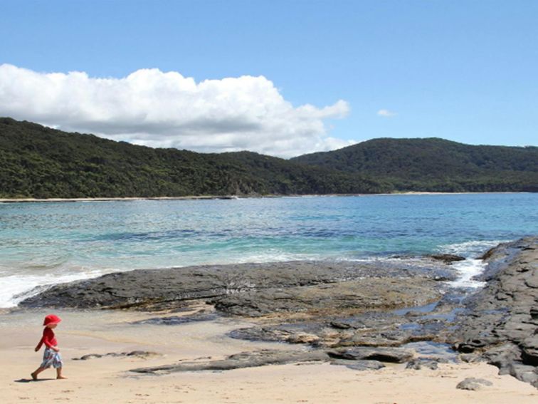
[[194, 371], [229, 371], [265, 365], [283, 365], [298, 362], [325, 362], [329, 360], [323, 351], [275, 351], [262, 350], [241, 352], [215, 361], [181, 362], [166, 366], [132, 369], [135, 373], [167, 374]]

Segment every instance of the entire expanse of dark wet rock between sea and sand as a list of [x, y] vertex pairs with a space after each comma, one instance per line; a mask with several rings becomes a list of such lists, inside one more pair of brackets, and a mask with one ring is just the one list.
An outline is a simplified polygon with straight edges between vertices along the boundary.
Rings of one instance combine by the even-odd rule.
[[[460, 284], [450, 281], [458, 279], [454, 269], [458, 271], [463, 257], [443, 254], [425, 257], [429, 264], [419, 265], [405, 260], [383, 264], [288, 261], [115, 272], [57, 284], [21, 301], [19, 308], [162, 312], [167, 315], [147, 321], [161, 326], [239, 318], [255, 325], [234, 329], [228, 337], [300, 344], [317, 351], [315, 361], [343, 366], [349, 366], [349, 360], [359, 361], [352, 366], [363, 366], [364, 355], [403, 363], [412, 358], [408, 349], [413, 349], [429, 352], [433, 355], [429, 361], [437, 367], [447, 360], [445, 351], [451, 348], [473, 353], [467, 356], [470, 361], [487, 360], [538, 387], [538, 376], [532, 373], [538, 356], [538, 341], [532, 338], [532, 324], [538, 320], [533, 306], [538, 298], [538, 272], [532, 270], [538, 260], [537, 247], [538, 237], [527, 237], [488, 250], [481, 257], [487, 263], [485, 272], [475, 274], [475, 281], [484, 281], [483, 289], [450, 287]], [[476, 296], [483, 296], [478, 300], [487, 304], [475, 304]], [[201, 304], [209, 309], [187, 317], [169, 316]], [[503, 318], [507, 326], [500, 329]], [[481, 323], [478, 331], [477, 321]], [[482, 336], [485, 331], [490, 335]], [[480, 335], [470, 338], [477, 332]], [[503, 350], [493, 353], [500, 344]], [[514, 353], [513, 357], [507, 352]], [[497, 357], [502, 361], [492, 360]], [[236, 368], [236, 359], [226, 361], [212, 361], [199, 370]], [[275, 353], [258, 353], [242, 358], [241, 363], [288, 362]], [[408, 366], [414, 365], [408, 362]], [[189, 369], [169, 366], [165, 373]], [[147, 372], [161, 374], [159, 368]]]

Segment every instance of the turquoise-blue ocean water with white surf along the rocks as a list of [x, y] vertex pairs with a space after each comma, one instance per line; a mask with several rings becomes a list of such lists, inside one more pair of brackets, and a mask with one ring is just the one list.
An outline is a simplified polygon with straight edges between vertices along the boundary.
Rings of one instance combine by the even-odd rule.
[[475, 257], [530, 234], [538, 194], [1, 203], [0, 307], [111, 271], [433, 252], [480, 286]]

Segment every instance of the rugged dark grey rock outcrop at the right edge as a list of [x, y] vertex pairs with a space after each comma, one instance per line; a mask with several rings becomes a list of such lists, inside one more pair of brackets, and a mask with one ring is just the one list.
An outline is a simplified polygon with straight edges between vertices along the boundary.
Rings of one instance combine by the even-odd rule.
[[538, 388], [538, 237], [500, 244], [485, 261], [487, 286], [464, 302], [449, 341]]

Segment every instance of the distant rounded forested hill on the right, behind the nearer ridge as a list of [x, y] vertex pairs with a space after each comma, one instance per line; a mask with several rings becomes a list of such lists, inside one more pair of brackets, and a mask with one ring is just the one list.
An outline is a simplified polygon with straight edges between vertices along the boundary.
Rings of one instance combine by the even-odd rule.
[[538, 147], [383, 138], [292, 161], [360, 173], [396, 191], [538, 191]]

